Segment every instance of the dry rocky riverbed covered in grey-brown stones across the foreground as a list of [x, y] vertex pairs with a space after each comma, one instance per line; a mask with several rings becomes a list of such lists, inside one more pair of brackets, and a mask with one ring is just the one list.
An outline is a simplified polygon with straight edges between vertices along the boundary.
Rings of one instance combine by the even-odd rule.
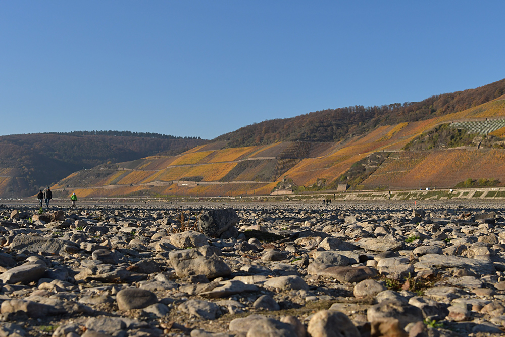
[[0, 336], [488, 336], [500, 205], [0, 209]]

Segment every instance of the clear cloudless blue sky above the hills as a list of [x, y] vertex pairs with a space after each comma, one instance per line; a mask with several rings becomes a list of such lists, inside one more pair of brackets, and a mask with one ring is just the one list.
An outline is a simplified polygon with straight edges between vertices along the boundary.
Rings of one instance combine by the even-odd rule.
[[505, 2], [2, 1], [0, 134], [214, 138], [505, 77]]

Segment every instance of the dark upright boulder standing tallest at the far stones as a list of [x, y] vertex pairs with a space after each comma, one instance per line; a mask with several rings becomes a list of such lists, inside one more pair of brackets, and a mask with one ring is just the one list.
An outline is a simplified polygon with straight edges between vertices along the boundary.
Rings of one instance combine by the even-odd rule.
[[198, 220], [199, 230], [207, 236], [219, 237], [238, 222], [237, 212], [233, 208], [205, 212]]

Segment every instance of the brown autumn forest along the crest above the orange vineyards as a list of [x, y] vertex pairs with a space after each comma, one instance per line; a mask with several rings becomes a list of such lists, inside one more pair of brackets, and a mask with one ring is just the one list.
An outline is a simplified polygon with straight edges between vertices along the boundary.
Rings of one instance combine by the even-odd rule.
[[229, 147], [275, 141], [338, 141], [365, 133], [378, 125], [414, 122], [459, 112], [492, 101], [505, 93], [505, 79], [475, 89], [433, 95], [421, 102], [382, 106], [352, 106], [311, 112], [292, 118], [272, 119], [244, 126], [214, 140]]

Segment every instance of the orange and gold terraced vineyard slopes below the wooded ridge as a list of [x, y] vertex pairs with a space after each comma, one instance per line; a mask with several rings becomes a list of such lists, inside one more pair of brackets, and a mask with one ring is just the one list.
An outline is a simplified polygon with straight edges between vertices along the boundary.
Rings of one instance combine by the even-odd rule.
[[307, 192], [336, 189], [338, 183], [351, 190], [502, 186], [503, 126], [500, 97], [457, 113], [379, 125], [336, 142], [241, 148], [208, 143], [177, 156], [79, 171], [53, 188], [65, 197], [76, 191], [81, 198], [107, 198], [267, 195], [278, 186]]

